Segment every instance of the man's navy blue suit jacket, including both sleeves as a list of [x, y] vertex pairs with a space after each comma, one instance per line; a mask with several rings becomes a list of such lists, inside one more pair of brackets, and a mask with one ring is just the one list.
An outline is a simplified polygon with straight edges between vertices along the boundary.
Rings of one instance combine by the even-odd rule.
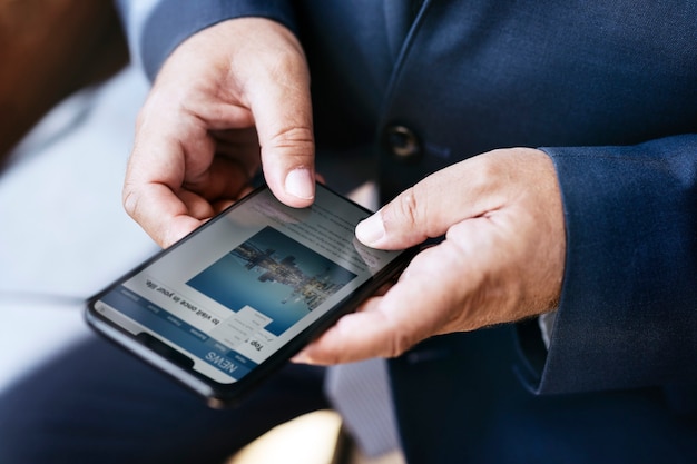
[[[696, 2], [161, 1], [146, 70], [242, 16], [298, 34], [318, 149], [373, 146], [384, 199], [493, 148], [556, 164], [568, 251], [549, 351], [520, 323], [393, 359], [410, 462], [697, 462]], [[394, 125], [418, 159], [393, 156]]]

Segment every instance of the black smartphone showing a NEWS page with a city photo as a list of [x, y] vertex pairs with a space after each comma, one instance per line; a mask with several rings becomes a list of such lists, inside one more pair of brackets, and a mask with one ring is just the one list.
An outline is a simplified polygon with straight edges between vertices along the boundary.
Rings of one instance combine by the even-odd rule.
[[261, 187], [89, 298], [87, 322], [210, 406], [235, 405], [414, 255], [359, 243], [370, 214], [322, 185], [301, 209]]

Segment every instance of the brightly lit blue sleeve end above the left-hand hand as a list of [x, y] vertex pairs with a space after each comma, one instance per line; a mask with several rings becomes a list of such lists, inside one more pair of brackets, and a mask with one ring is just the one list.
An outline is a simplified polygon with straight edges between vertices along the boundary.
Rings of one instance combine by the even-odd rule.
[[131, 56], [150, 80], [179, 43], [218, 22], [259, 17], [295, 30], [289, 3], [285, 0], [117, 0]]

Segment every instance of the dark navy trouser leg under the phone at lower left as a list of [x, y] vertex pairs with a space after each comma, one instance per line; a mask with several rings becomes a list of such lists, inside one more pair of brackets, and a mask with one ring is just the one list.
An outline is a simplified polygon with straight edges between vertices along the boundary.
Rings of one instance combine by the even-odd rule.
[[240, 407], [216, 411], [90, 337], [3, 392], [0, 462], [223, 463], [274, 425], [327, 408], [322, 368], [289, 365]]

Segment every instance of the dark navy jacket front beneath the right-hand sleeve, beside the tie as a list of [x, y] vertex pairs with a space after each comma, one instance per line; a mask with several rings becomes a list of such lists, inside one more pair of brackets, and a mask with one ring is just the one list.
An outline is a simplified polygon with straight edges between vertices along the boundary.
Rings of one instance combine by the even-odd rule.
[[674, 409], [664, 389], [534, 395], [512, 368], [518, 363], [511, 326], [436, 337], [394, 359], [408, 461], [695, 462], [694, 409]]

